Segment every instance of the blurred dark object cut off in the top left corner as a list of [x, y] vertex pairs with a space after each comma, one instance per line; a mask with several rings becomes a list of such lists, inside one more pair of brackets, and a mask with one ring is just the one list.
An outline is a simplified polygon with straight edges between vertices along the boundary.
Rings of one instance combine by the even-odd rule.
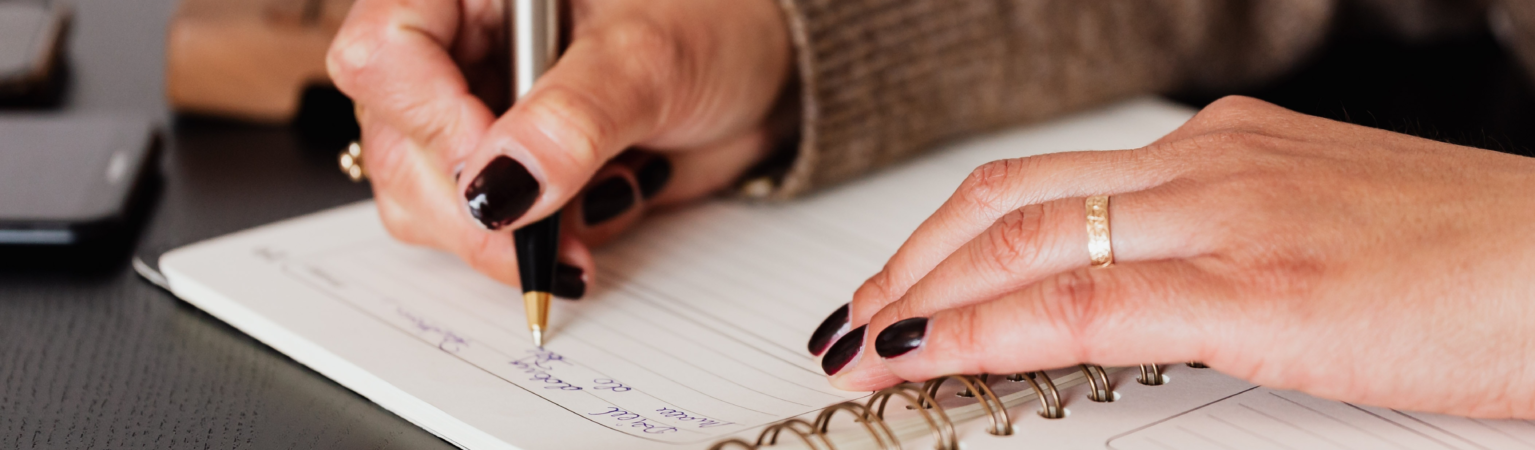
[[0, 0], [0, 98], [25, 98], [51, 84], [68, 18], [64, 6]]

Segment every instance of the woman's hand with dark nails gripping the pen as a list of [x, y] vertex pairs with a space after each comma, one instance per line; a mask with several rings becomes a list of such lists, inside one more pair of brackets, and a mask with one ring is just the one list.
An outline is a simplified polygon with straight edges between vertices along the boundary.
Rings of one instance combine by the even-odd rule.
[[358, 104], [394, 238], [517, 284], [507, 229], [569, 204], [562, 272], [582, 269], [585, 284], [586, 246], [728, 186], [768, 152], [792, 69], [774, 0], [571, 0], [566, 52], [497, 118], [507, 3], [359, 0], [338, 32], [327, 65]]

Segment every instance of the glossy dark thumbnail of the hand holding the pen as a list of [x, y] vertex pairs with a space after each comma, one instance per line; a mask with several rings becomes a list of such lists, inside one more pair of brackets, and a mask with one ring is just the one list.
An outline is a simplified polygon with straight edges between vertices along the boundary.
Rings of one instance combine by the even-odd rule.
[[505, 227], [533, 207], [539, 200], [539, 180], [527, 166], [510, 157], [496, 157], [485, 164], [479, 177], [464, 190], [470, 215], [487, 229]]

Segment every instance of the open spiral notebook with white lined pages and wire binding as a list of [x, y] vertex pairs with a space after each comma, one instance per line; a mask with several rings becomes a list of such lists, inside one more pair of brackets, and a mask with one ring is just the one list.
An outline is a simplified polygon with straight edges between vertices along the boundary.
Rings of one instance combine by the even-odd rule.
[[599, 281], [556, 304], [543, 349], [516, 289], [390, 240], [371, 203], [160, 267], [187, 303], [462, 448], [1535, 448], [1527, 421], [1320, 401], [1185, 364], [826, 384], [812, 329], [975, 166], [1136, 147], [1191, 114], [1137, 100], [787, 204], [662, 213], [597, 253]]

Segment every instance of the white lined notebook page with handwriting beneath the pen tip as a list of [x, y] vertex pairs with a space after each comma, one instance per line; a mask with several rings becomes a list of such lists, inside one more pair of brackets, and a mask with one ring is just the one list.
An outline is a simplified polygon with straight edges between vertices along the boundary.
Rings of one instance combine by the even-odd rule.
[[1190, 111], [1133, 101], [959, 144], [781, 206], [660, 215], [597, 255], [528, 341], [520, 292], [394, 243], [370, 203], [166, 255], [189, 303], [465, 448], [674, 448], [863, 398], [804, 350], [978, 164], [1153, 141]]

